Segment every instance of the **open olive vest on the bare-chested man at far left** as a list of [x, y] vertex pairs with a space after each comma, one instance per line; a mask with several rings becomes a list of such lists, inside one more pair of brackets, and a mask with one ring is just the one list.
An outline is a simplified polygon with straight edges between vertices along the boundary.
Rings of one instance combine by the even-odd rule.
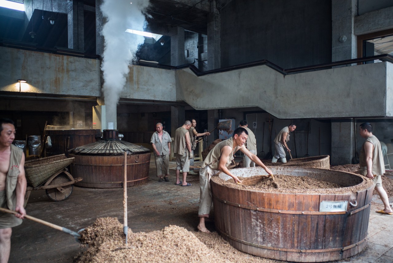
[[10, 210], [15, 210], [17, 202], [17, 194], [15, 188], [17, 187], [19, 164], [22, 159], [23, 151], [14, 144], [11, 144], [11, 156], [9, 157], [9, 169], [6, 178], [6, 197], [7, 206]]

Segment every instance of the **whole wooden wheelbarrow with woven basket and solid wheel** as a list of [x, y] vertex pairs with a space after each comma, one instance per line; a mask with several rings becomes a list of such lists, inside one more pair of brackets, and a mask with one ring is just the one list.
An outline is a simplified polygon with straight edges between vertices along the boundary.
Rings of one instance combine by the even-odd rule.
[[24, 206], [33, 190], [45, 189], [46, 195], [56, 202], [70, 197], [73, 184], [82, 181], [81, 177], [73, 178], [66, 168], [74, 161], [75, 157], [67, 158], [65, 154], [26, 161], [24, 169], [28, 187]]

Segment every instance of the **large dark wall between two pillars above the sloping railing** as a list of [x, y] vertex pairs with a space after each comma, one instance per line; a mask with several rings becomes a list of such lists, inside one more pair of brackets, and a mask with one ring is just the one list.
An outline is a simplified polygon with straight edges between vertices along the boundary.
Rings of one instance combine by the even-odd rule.
[[267, 59], [284, 69], [331, 62], [331, 0], [232, 0], [220, 10], [221, 67]]

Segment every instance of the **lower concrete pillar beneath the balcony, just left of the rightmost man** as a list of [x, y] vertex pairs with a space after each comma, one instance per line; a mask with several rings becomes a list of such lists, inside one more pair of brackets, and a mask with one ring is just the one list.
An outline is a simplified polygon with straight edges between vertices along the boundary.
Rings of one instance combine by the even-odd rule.
[[332, 122], [332, 165], [352, 163], [353, 156], [353, 122]]

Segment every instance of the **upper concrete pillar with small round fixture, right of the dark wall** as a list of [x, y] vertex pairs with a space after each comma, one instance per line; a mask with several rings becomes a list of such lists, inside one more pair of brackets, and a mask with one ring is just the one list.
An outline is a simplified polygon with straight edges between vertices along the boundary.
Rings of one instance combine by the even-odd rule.
[[[356, 15], [357, 0], [332, 0], [332, 62], [357, 57], [354, 35]], [[345, 41], [340, 39], [343, 36]]]

